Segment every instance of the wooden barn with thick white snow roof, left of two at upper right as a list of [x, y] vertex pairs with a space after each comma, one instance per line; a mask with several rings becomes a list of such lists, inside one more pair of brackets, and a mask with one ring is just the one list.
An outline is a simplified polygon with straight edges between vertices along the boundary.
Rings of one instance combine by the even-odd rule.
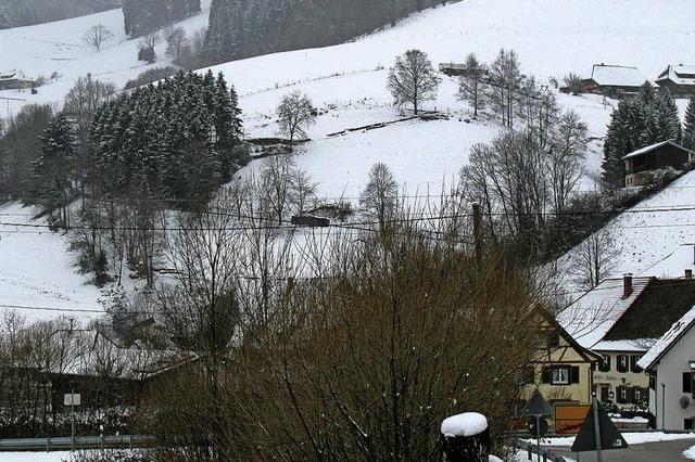
[[594, 64], [591, 77], [580, 84], [581, 93], [622, 99], [635, 94], [648, 79], [636, 67]]

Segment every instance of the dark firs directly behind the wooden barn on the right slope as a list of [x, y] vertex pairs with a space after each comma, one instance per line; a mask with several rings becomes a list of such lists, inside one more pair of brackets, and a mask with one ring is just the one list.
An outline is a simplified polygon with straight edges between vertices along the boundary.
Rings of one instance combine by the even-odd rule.
[[614, 111], [604, 144], [603, 179], [612, 188], [624, 185], [626, 155], [660, 141], [681, 141], [678, 107], [668, 90], [645, 82], [631, 100]]

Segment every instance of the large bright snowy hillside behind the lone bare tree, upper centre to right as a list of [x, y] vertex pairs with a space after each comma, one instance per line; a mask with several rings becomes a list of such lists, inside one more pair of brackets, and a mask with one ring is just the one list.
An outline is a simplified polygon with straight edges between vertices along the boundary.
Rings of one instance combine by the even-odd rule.
[[[469, 52], [483, 61], [501, 48], [518, 52], [522, 70], [543, 81], [569, 72], [587, 74], [595, 63], [639, 66], [652, 78], [669, 63], [695, 62], [687, 46], [687, 15], [695, 4], [675, 0], [658, 8], [656, 0], [466, 0], [428, 10], [395, 27], [354, 42], [253, 57], [213, 67], [223, 72], [241, 94], [249, 137], [277, 134], [274, 108], [283, 94], [301, 90], [327, 111], [309, 130], [316, 140], [302, 151], [299, 163], [319, 182], [320, 194], [355, 196], [369, 166], [386, 162], [408, 191], [438, 189], [455, 177], [470, 146], [498, 132], [489, 125], [462, 124], [468, 107], [456, 99], [456, 85], [445, 78], [438, 99], [426, 104], [454, 114], [448, 121], [409, 123], [375, 132], [331, 132], [397, 118], [386, 90], [389, 66], [407, 49], [427, 52], [437, 66], [460, 62]], [[668, 24], [658, 29], [653, 24]], [[560, 104], [580, 113], [595, 141], [587, 174], [601, 168], [601, 138], [611, 105], [598, 98], [558, 95]], [[426, 125], [426, 127], [424, 126]], [[592, 181], [582, 189], [594, 188]]]

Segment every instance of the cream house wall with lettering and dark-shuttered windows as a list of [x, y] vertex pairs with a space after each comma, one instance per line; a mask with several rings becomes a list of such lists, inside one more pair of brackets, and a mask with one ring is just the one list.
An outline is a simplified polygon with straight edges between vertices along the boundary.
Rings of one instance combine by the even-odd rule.
[[[644, 400], [648, 399], [647, 388], [649, 387], [649, 376], [644, 372], [635, 372], [632, 370], [632, 363], [630, 361], [630, 357], [634, 356], [636, 359], [641, 358], [646, 351], [596, 351], [601, 355], [608, 356], [610, 358], [610, 370], [609, 371], [601, 371], [596, 368], [594, 371], [594, 387], [596, 390], [596, 396], [603, 402], [615, 403], [619, 408], [628, 409], [633, 408], [641, 402], [636, 399], [632, 398], [634, 395], [630, 395], [628, 393], [628, 401], [630, 402], [618, 402], [620, 387], [624, 387], [630, 390], [631, 388], [639, 388], [640, 393], [644, 395]], [[618, 357], [627, 356], [628, 357], [628, 371], [619, 372], [618, 370]], [[607, 393], [612, 393], [612, 399], [605, 399], [605, 394], [602, 394], [602, 388], [607, 387]], [[642, 401], [640, 399], [639, 401]]]

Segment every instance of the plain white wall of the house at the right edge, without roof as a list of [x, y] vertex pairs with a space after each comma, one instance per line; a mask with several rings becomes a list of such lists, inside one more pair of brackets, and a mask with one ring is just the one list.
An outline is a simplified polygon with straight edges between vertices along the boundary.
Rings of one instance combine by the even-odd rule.
[[[654, 394], [658, 429], [684, 429], [684, 420], [695, 418], [693, 393], [683, 393], [683, 372], [691, 372], [691, 360], [695, 360], [695, 330], [693, 329], [658, 363]], [[691, 401], [687, 409], [681, 408], [680, 401], [684, 396]]]

